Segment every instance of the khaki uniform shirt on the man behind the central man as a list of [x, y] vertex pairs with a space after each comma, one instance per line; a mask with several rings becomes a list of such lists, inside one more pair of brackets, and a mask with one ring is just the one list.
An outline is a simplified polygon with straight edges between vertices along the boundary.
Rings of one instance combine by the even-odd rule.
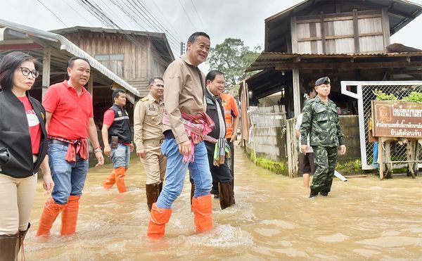
[[162, 114], [164, 102], [155, 100], [151, 94], [142, 98], [135, 106], [134, 141], [136, 152], [143, 150], [143, 141], [148, 139], [163, 139]]

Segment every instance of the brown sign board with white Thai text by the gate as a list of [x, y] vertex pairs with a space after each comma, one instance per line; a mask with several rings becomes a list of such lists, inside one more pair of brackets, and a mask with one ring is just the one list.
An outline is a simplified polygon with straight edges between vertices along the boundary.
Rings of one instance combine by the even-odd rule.
[[422, 103], [372, 101], [373, 136], [422, 138]]

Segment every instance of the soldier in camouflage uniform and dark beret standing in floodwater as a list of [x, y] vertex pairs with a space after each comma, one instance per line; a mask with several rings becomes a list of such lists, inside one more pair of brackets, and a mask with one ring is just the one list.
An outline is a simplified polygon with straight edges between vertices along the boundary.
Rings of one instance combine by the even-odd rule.
[[318, 95], [305, 103], [300, 125], [301, 151], [305, 153], [307, 151], [308, 134], [310, 146], [314, 150], [315, 173], [309, 198], [317, 196], [318, 193], [321, 193], [321, 196], [328, 196], [337, 165], [338, 146], [340, 155], [346, 153], [337, 108], [328, 98], [331, 89], [330, 79], [328, 77], [317, 79], [315, 89]]

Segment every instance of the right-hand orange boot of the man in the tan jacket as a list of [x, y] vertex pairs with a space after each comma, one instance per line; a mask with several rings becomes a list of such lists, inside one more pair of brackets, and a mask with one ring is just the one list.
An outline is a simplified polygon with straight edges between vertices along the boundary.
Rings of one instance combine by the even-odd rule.
[[195, 232], [201, 233], [212, 229], [211, 194], [192, 199], [192, 211], [195, 214]]

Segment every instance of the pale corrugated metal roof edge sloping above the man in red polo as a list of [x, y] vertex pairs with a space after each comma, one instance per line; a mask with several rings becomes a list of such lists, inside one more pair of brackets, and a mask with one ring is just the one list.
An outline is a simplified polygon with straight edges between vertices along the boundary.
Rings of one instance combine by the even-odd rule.
[[13, 30], [16, 32], [23, 33], [28, 38], [31, 37], [38, 37], [40, 39], [44, 39], [49, 42], [53, 42], [55, 44], [60, 44], [60, 50], [68, 51], [68, 53], [72, 54], [72, 56], [79, 56], [83, 58], [87, 58], [89, 61], [89, 64], [92, 68], [95, 68], [98, 70], [98, 72], [101, 72], [103, 75], [111, 79], [113, 82], [119, 84], [124, 89], [127, 89], [127, 91], [130, 91], [134, 96], [139, 97], [139, 91], [136, 90], [134, 87], [129, 85], [127, 82], [124, 82], [123, 79], [115, 75], [112, 71], [108, 70], [106, 66], [102, 65], [98, 61], [96, 61], [95, 58], [89, 56], [88, 53], [80, 49], [78, 46], [70, 42], [65, 37], [61, 36], [60, 34], [54, 34], [52, 32], [46, 32], [43, 30], [39, 30], [33, 27], [25, 26], [25, 25], [19, 25], [17, 23], [12, 23], [6, 20], [0, 19], [0, 26], [6, 27], [9, 30]]

